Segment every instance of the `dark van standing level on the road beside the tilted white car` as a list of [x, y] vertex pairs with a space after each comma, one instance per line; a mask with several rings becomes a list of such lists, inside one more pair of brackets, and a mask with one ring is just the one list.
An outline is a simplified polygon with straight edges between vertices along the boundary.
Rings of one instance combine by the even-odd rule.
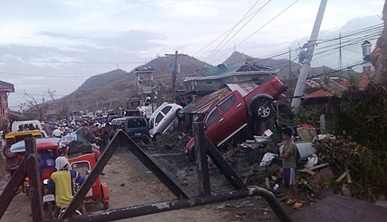
[[112, 125], [115, 129], [124, 130], [134, 141], [145, 139], [148, 136], [148, 121], [144, 116], [115, 118]]

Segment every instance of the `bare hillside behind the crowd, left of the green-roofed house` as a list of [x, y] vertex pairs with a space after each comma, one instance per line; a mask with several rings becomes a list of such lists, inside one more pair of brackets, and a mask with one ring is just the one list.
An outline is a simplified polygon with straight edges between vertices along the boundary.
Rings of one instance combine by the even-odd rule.
[[[155, 70], [153, 73], [155, 85], [161, 82], [168, 90], [172, 89], [170, 63], [174, 62], [175, 56], [160, 56], [137, 68], [152, 67]], [[183, 55], [178, 56], [177, 63], [180, 64], [180, 73], [177, 74], [178, 90], [182, 89], [182, 82], [188, 75], [206, 65], [194, 57]], [[55, 113], [58, 106], [70, 111], [85, 109], [94, 111], [125, 107], [127, 99], [135, 96], [136, 82], [133, 71], [128, 73], [118, 69], [92, 76], [75, 92], [61, 99], [56, 99], [56, 101], [50, 101], [49, 104], [56, 104], [56, 106], [51, 106], [53, 110], [51, 113]]]

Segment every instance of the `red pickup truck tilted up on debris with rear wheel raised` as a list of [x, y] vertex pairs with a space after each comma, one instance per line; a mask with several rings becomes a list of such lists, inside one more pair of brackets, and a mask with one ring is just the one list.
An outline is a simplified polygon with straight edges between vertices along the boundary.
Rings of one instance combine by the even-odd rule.
[[[272, 101], [284, 91], [284, 84], [275, 76], [248, 94], [242, 89], [234, 90], [205, 115], [205, 135], [212, 144], [219, 147], [244, 128], [249, 119], [271, 118], [274, 113]], [[186, 154], [190, 159], [194, 159], [194, 147], [195, 139], [192, 138], [186, 144]]]

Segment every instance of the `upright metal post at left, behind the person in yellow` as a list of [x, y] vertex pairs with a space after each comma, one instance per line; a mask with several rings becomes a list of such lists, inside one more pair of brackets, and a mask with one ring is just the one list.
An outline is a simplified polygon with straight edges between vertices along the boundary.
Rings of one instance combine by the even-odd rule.
[[37, 164], [37, 144], [35, 138], [25, 138], [25, 159], [27, 175], [30, 179], [30, 199], [32, 221], [43, 221], [42, 190], [40, 189], [40, 175]]

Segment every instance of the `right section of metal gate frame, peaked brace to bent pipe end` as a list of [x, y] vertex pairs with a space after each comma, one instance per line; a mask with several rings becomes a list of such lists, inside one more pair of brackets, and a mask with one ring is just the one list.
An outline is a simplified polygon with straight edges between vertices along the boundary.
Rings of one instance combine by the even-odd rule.
[[[194, 135], [196, 140], [196, 165], [198, 166], [198, 183], [199, 197], [188, 197], [177, 184], [159, 168], [152, 159], [122, 130], [113, 137], [113, 140], [108, 144], [103, 154], [97, 161], [96, 166], [84, 181], [80, 190], [75, 195], [74, 199], [68, 206], [68, 209], [63, 214], [60, 221], [115, 221], [123, 218], [132, 218], [135, 216], [143, 216], [147, 214], [156, 214], [164, 211], [172, 211], [175, 209], [184, 209], [193, 206], [201, 206], [212, 204], [215, 202], [223, 202], [230, 199], [239, 199], [260, 195], [272, 207], [280, 221], [291, 222], [292, 219], [288, 216], [284, 208], [279, 204], [277, 198], [272, 192], [263, 189], [262, 187], [246, 187], [241, 178], [232, 170], [222, 156], [217, 152], [217, 149], [208, 141], [204, 135], [204, 123], [194, 123]], [[156, 177], [164, 183], [167, 188], [177, 197], [177, 199], [141, 204], [137, 206], [127, 206], [120, 209], [108, 209], [105, 211], [96, 211], [90, 214], [72, 217], [73, 212], [82, 203], [83, 197], [91, 188], [103, 167], [108, 163], [108, 160], [113, 156], [118, 147], [127, 147]], [[220, 168], [220, 171], [225, 175], [227, 180], [231, 182], [236, 190], [213, 193], [210, 192], [210, 180], [208, 174], [207, 155], [214, 161], [214, 164]]]

